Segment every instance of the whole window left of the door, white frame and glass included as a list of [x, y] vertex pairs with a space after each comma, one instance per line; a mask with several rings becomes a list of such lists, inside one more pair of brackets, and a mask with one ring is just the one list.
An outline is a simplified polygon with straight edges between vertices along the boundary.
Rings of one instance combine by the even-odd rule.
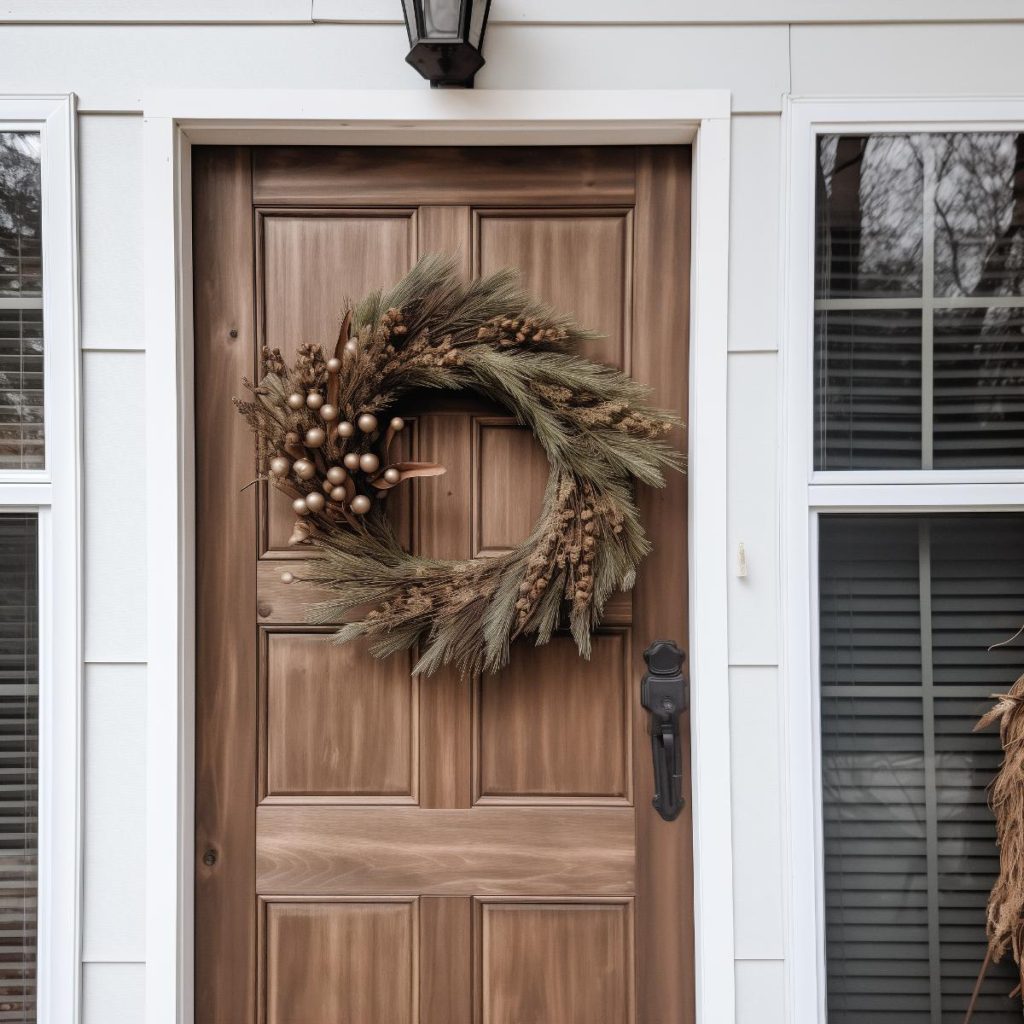
[[74, 1024], [80, 1005], [74, 126], [69, 96], [0, 96], [0, 1020], [12, 1024]]

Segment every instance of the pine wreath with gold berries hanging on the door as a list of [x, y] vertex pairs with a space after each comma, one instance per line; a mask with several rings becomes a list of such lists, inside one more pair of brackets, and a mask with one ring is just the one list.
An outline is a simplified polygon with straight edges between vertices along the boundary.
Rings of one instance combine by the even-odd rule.
[[[518, 637], [547, 643], [567, 620], [580, 653], [609, 594], [628, 590], [650, 545], [634, 481], [663, 486], [683, 458], [668, 441], [677, 417], [646, 403], [626, 374], [573, 354], [598, 337], [526, 296], [515, 270], [464, 283], [452, 257], [427, 256], [390, 291], [344, 317], [332, 355], [305, 344], [294, 365], [263, 350], [264, 376], [234, 399], [257, 438], [260, 479], [292, 498], [291, 543], [312, 548], [302, 582], [331, 593], [314, 623], [343, 625], [385, 657], [417, 648], [415, 672], [505, 666]], [[391, 488], [444, 472], [391, 462], [414, 389], [468, 390], [528, 426], [551, 466], [541, 517], [515, 550], [466, 560], [403, 550], [386, 515]], [[291, 583], [295, 577], [285, 572]]]

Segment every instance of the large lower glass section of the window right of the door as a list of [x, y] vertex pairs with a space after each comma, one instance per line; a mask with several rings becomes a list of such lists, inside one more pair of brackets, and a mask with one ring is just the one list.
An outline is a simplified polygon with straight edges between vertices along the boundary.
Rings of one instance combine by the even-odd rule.
[[[961, 1021], [998, 870], [974, 733], [1020, 648], [1024, 515], [823, 516], [821, 777], [829, 1024]], [[1009, 959], [976, 1020], [1020, 1021]], [[936, 1016], [938, 1015], [938, 1016]]]

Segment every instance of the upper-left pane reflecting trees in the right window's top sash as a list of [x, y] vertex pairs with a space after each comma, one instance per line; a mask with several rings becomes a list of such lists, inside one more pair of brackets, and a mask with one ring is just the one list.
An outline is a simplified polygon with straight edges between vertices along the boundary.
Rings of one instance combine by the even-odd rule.
[[921, 137], [822, 136], [817, 294], [921, 295]]

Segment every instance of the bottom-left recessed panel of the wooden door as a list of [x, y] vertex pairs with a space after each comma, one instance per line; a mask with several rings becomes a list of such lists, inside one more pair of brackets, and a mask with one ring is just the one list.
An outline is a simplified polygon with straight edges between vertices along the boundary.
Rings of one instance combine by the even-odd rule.
[[417, 1024], [415, 900], [274, 900], [263, 909], [264, 1024]]

